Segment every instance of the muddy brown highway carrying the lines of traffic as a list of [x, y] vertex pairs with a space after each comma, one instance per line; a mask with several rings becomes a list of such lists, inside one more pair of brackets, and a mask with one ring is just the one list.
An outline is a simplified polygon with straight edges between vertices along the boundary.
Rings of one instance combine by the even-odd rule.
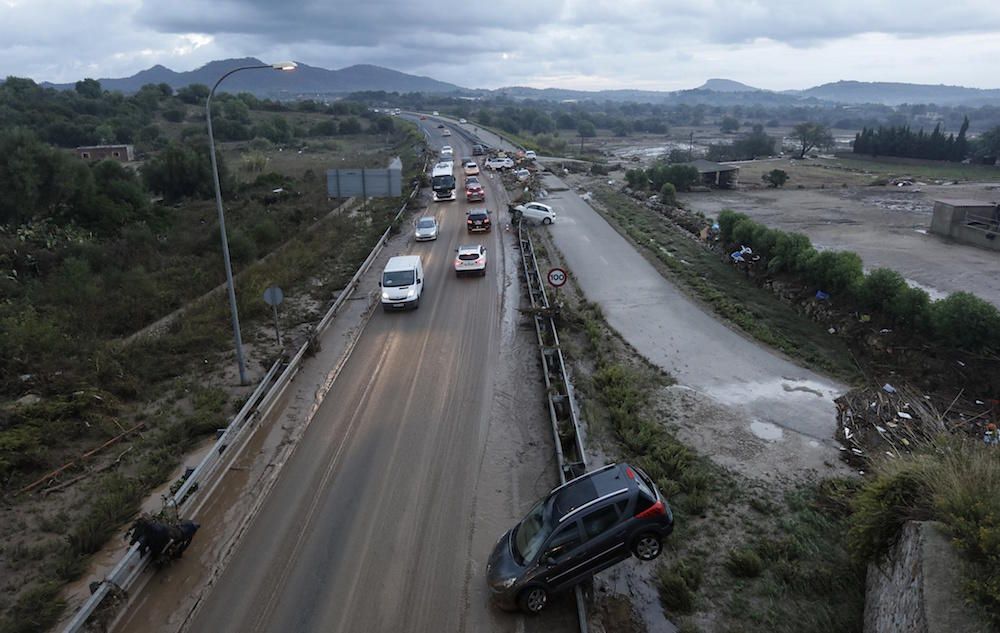
[[[455, 147], [456, 166], [471, 154], [457, 135], [428, 132]], [[171, 601], [203, 579], [165, 576], [118, 630], [178, 619], [212, 633], [572, 630], [571, 599], [532, 619], [488, 603], [493, 542], [557, 473], [537, 351], [512, 316], [520, 288], [499, 181], [482, 177], [500, 230], [479, 235], [467, 235], [457, 181], [459, 200], [428, 203], [438, 240], [393, 253], [423, 258], [420, 308], [374, 313], [207, 596], [167, 625]], [[469, 243], [488, 249], [486, 277], [455, 277], [455, 249]], [[199, 555], [211, 548], [196, 539]]]

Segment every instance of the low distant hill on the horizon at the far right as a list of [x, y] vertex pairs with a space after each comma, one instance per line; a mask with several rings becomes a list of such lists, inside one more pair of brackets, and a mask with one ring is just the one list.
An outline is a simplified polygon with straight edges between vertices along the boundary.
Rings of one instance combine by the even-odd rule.
[[838, 81], [807, 90], [789, 91], [837, 103], [936, 103], [939, 105], [985, 105], [1000, 103], [1000, 90], [963, 86], [906, 84], [892, 82]]

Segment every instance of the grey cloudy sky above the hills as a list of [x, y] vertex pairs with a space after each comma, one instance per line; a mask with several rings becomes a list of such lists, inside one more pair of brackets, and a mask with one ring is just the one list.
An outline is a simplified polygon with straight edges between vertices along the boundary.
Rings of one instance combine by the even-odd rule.
[[1000, 2], [0, 0], [0, 76], [67, 82], [244, 56], [470, 88], [1000, 88]]

